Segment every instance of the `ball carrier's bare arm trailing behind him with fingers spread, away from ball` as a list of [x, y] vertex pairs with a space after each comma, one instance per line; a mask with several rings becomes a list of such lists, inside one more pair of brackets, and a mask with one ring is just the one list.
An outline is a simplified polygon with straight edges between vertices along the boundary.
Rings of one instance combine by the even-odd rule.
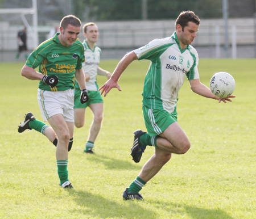
[[104, 96], [106, 96], [113, 87], [116, 87], [119, 91], [121, 91], [117, 82], [123, 71], [125, 71], [127, 66], [129, 66], [134, 60], [138, 60], [137, 55], [134, 52], [129, 52], [122, 58], [121, 61], [119, 61], [117, 68], [115, 68], [110, 79], [99, 89], [102, 90], [101, 95], [105, 92]]

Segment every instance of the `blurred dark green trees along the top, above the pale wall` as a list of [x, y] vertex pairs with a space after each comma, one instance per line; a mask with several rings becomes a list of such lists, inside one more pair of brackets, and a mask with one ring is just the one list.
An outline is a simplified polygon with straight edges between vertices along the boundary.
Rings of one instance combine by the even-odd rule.
[[[195, 11], [200, 18], [222, 18], [222, 0], [144, 0], [147, 19], [175, 19], [181, 11]], [[0, 0], [1, 8], [31, 7], [32, 0]], [[38, 0], [40, 25], [74, 14], [85, 21], [141, 20], [143, 0]], [[230, 18], [252, 17], [255, 0], [228, 0]], [[32, 16], [31, 16], [32, 18]], [[31, 18], [28, 18], [31, 19]], [[0, 20], [17, 22], [19, 15], [1, 15]]]

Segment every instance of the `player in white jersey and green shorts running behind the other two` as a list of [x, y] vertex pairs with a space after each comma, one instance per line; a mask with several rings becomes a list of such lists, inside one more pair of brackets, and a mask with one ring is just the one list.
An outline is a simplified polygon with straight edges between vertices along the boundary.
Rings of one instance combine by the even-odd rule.
[[89, 101], [85, 104], [80, 103], [80, 89], [76, 82], [75, 84], [75, 106], [74, 106], [74, 117], [75, 126], [81, 128], [84, 126], [85, 110], [89, 107], [93, 112], [93, 121], [90, 125], [89, 135], [85, 143], [85, 153], [93, 153], [93, 146], [98, 133], [101, 129], [101, 123], [103, 119], [103, 99], [98, 91], [97, 74], [105, 75], [106, 78], [111, 77], [111, 73], [104, 69], [101, 69], [98, 65], [100, 64], [101, 49], [97, 47], [96, 42], [98, 40], [98, 27], [94, 23], [86, 23], [82, 27], [84, 32], [85, 40], [82, 43], [84, 45], [84, 56], [85, 62], [82, 63], [82, 69], [85, 73], [86, 87], [88, 90]]

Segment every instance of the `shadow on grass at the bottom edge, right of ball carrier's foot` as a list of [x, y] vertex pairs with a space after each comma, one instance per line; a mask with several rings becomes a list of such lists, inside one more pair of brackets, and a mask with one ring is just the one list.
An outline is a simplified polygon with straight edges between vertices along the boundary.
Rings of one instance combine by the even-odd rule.
[[234, 219], [222, 209], [205, 209], [195, 205], [164, 203], [162, 201], [150, 201], [150, 204], [156, 208], [165, 209], [171, 214], [185, 214], [193, 219]]

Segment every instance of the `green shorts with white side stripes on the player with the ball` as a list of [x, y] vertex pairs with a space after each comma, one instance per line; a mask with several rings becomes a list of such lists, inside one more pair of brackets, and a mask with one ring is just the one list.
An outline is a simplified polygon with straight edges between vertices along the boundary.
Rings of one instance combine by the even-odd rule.
[[177, 121], [176, 107], [172, 113], [166, 110], [148, 109], [145, 106], [142, 107], [142, 111], [147, 132], [151, 137], [163, 133], [169, 125]]

